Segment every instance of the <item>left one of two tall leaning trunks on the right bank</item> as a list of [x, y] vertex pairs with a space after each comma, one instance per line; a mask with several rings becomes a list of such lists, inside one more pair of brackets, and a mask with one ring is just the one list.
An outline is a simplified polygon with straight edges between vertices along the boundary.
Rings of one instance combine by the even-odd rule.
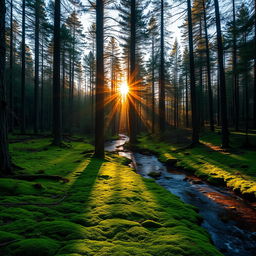
[[190, 94], [191, 94], [191, 108], [192, 108], [192, 130], [193, 130], [192, 145], [196, 145], [199, 143], [199, 133], [198, 133], [193, 27], [192, 27], [192, 13], [191, 13], [190, 0], [187, 0], [187, 5], [188, 5], [188, 33], [189, 33]]

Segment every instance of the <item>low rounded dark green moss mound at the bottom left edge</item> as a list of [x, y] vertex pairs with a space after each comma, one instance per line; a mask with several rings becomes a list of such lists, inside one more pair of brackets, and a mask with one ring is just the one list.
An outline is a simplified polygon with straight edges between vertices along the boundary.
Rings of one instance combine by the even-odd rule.
[[9, 246], [10, 256], [53, 256], [59, 249], [59, 243], [52, 239], [25, 239]]

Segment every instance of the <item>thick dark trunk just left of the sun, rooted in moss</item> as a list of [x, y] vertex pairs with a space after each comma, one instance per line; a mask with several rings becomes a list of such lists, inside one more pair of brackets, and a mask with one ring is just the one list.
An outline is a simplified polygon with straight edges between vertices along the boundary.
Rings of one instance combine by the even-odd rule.
[[104, 0], [96, 1], [95, 156], [104, 158]]

